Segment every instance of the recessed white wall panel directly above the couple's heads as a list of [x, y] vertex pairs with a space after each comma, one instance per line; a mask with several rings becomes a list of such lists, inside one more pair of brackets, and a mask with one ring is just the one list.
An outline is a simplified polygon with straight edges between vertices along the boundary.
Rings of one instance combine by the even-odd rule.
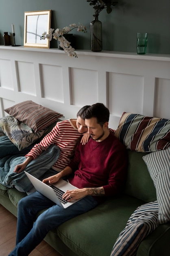
[[80, 108], [98, 102], [98, 72], [96, 70], [70, 69], [70, 102]]

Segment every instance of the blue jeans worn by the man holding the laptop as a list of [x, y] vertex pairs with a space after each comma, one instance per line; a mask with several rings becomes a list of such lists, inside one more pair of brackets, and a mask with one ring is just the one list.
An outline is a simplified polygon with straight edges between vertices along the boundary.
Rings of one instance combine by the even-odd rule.
[[[97, 205], [92, 196], [86, 196], [66, 209], [37, 191], [22, 198], [18, 204], [16, 247], [9, 256], [28, 256], [51, 229]], [[37, 212], [43, 209], [47, 210], [35, 221]]]

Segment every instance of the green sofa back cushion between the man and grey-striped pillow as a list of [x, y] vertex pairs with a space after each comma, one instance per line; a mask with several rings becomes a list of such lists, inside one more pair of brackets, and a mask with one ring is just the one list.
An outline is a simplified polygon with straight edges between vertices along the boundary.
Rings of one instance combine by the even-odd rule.
[[142, 159], [146, 154], [128, 150], [129, 164], [125, 193], [144, 202], [151, 202], [155, 201], [157, 197], [153, 180]]

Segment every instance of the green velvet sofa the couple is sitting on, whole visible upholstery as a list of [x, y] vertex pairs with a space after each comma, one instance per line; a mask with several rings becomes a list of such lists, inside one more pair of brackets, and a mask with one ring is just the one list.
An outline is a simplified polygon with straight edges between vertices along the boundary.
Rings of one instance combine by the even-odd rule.
[[[51, 230], [45, 240], [63, 256], [110, 256], [129, 217], [141, 204], [156, 200], [156, 191], [142, 156], [128, 150], [129, 168], [122, 195]], [[0, 204], [17, 216], [17, 205], [26, 193], [0, 185]], [[170, 255], [170, 223], [159, 225], [139, 245], [137, 256]]]

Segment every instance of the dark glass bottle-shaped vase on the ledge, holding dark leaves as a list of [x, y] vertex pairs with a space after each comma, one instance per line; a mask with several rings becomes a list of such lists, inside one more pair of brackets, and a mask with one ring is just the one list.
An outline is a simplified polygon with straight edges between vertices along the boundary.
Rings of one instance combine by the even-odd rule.
[[92, 52], [102, 50], [102, 22], [98, 20], [98, 15], [93, 15], [94, 20], [90, 24], [90, 39]]

